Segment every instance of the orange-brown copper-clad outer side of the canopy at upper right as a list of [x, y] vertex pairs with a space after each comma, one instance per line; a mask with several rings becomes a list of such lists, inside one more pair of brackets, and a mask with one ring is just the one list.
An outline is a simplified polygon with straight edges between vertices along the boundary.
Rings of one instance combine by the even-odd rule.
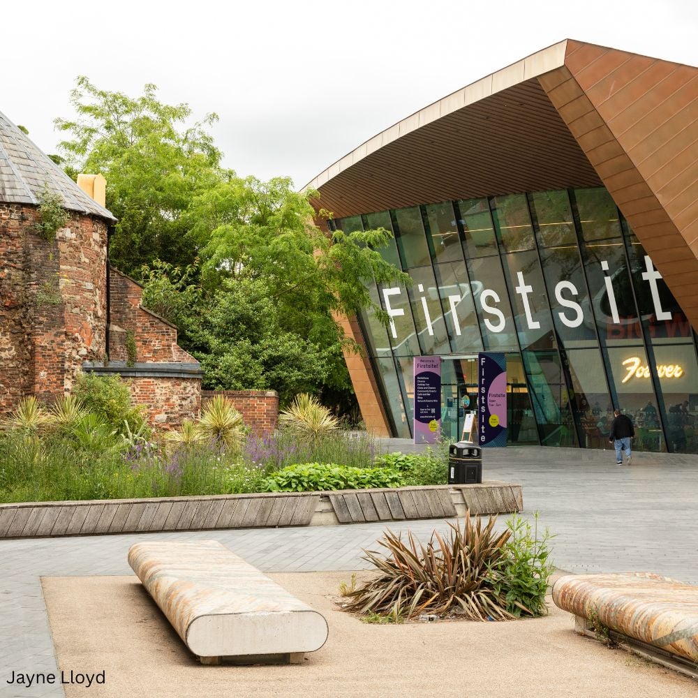
[[698, 330], [698, 69], [569, 41], [538, 80]]

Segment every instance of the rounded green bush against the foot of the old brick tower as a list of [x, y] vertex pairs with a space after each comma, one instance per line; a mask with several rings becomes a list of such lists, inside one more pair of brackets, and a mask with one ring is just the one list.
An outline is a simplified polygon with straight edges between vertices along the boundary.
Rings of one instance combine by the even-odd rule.
[[131, 406], [131, 392], [119, 376], [83, 373], [73, 389], [87, 412], [94, 413], [119, 433], [138, 431], [145, 423], [142, 408]]

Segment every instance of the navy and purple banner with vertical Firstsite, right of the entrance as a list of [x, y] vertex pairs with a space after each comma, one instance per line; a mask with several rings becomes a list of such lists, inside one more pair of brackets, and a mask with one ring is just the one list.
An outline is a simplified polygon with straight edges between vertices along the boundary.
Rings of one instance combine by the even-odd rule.
[[499, 352], [477, 355], [477, 443], [507, 445], [507, 359]]

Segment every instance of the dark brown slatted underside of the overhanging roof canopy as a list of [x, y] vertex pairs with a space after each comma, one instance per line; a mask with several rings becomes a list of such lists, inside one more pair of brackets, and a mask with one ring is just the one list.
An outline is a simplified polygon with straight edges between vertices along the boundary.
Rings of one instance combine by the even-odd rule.
[[337, 218], [460, 198], [600, 186], [537, 80], [396, 138], [320, 186]]

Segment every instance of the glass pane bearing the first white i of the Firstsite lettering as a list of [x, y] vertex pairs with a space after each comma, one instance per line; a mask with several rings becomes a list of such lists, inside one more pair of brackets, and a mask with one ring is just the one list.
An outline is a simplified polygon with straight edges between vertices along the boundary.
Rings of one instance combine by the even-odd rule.
[[422, 352], [426, 355], [450, 354], [446, 322], [433, 269], [431, 266], [418, 267], [410, 269], [408, 274], [413, 281], [409, 290], [410, 302]]

